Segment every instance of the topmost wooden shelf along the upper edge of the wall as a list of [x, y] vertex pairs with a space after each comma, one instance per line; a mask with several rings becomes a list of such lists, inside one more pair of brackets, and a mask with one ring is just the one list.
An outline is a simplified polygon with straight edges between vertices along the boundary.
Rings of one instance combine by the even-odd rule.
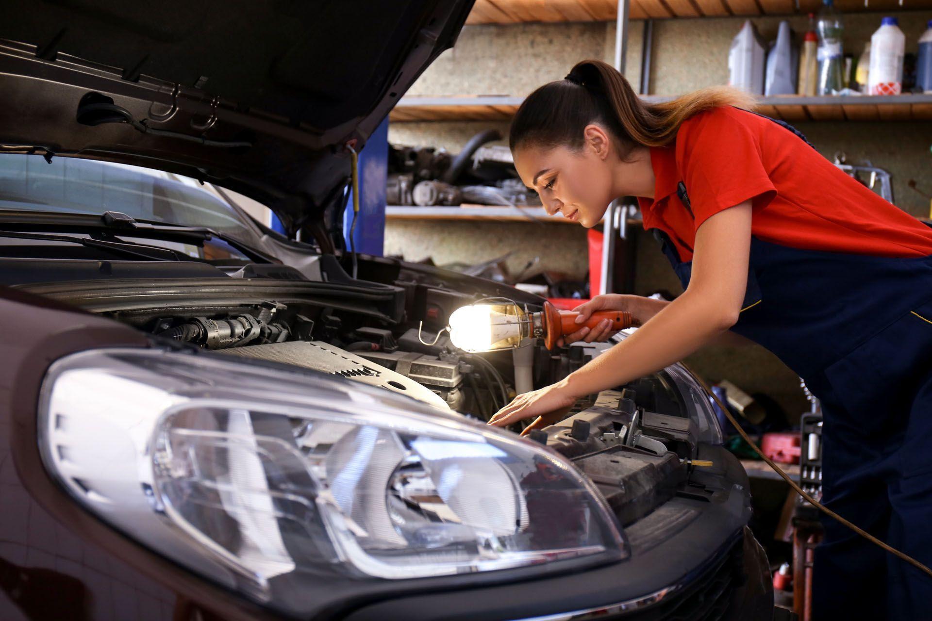
[[[806, 15], [821, 7], [820, 0], [629, 0], [629, 19], [672, 19], [760, 15]], [[843, 13], [902, 11], [932, 8], [932, 0], [835, 0]], [[530, 21], [610, 21], [617, 15], [615, 0], [476, 0], [467, 24], [525, 23]]]

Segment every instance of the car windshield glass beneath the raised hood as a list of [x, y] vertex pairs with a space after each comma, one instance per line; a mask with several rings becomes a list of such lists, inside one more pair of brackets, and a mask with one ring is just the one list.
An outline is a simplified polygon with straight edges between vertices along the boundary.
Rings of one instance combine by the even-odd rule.
[[76, 157], [0, 154], [0, 209], [102, 214], [206, 226], [253, 245], [254, 229], [210, 185], [181, 175]]

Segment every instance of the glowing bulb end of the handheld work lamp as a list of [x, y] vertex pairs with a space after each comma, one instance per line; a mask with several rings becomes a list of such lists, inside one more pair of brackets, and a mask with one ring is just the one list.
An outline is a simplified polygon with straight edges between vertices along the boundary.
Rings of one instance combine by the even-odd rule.
[[450, 315], [450, 340], [468, 352], [508, 349], [521, 343], [525, 313], [516, 304], [471, 304]]

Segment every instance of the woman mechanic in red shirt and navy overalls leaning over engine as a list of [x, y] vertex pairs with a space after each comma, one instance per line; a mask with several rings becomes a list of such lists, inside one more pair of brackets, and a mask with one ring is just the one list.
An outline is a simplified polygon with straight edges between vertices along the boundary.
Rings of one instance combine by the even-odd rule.
[[[591, 227], [612, 200], [637, 196], [685, 292], [669, 303], [599, 295], [580, 306], [581, 321], [624, 310], [640, 328], [565, 380], [514, 398], [490, 424], [550, 425], [577, 398], [736, 332], [821, 399], [823, 502], [928, 565], [932, 228], [752, 106], [722, 88], [647, 103], [600, 61], [524, 101], [511, 149], [544, 209]], [[607, 323], [567, 342], [605, 340]], [[834, 521], [825, 529], [816, 618], [926, 618], [928, 576]]]

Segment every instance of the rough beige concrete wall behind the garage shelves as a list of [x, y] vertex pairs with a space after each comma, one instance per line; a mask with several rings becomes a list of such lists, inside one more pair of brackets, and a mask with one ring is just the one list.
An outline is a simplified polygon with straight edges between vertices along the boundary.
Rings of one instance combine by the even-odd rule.
[[[870, 34], [880, 25], [879, 13], [845, 15], [845, 52], [857, 58]], [[925, 30], [930, 11], [898, 13], [907, 36], [907, 52]], [[794, 30], [806, 29], [804, 17], [789, 18]], [[754, 19], [761, 35], [772, 40], [780, 18]], [[676, 95], [728, 81], [727, 56], [743, 18], [655, 20], [651, 60], [651, 94]], [[625, 75], [637, 90], [645, 22], [631, 22]], [[562, 78], [572, 65], [587, 58], [611, 61], [614, 22], [467, 26], [457, 47], [434, 62], [411, 89], [411, 95], [527, 95], [541, 84]], [[396, 123], [389, 128], [392, 143], [432, 145], [457, 152], [474, 133], [489, 127], [507, 134], [508, 124], [483, 122]], [[929, 213], [929, 201], [911, 190], [915, 180], [932, 195], [928, 174], [932, 156], [932, 123], [807, 122], [799, 128], [816, 148], [831, 158], [838, 152], [851, 163], [866, 160], [893, 174], [896, 203], [913, 215]], [[387, 254], [436, 263], [486, 261], [514, 250], [509, 266], [518, 269], [534, 256], [548, 269], [583, 277], [586, 270], [585, 231], [548, 224], [545, 236], [535, 224], [412, 223], [386, 226]], [[657, 289], [676, 292], [678, 282], [649, 236], [637, 236], [636, 293]], [[712, 380], [727, 377], [748, 392], [766, 392], [791, 415], [805, 408], [795, 375], [760, 347], [737, 351], [707, 348], [689, 359]]]

